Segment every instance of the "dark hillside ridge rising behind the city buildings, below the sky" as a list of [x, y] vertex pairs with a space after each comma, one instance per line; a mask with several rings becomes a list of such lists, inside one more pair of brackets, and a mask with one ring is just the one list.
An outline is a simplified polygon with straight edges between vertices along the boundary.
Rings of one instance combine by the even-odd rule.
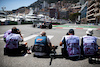
[[[41, 3], [43, 3], [43, 1], [47, 1], [49, 4], [50, 4], [50, 3], [56, 3], [56, 2], [58, 2], [58, 1], [64, 1], [65, 3], [77, 3], [77, 2], [79, 2], [79, 0], [37, 0], [36, 2], [30, 4], [30, 6], [27, 6], [26, 8], [27, 8], [27, 9], [29, 9], [30, 7], [32, 7], [33, 9], [34, 9], [35, 7], [41, 8]], [[16, 10], [12, 10], [11, 13], [16, 13], [16, 12], [22, 13], [23, 11], [25, 11], [24, 8], [25, 8], [25, 7], [19, 7], [19, 8], [16, 9]]]

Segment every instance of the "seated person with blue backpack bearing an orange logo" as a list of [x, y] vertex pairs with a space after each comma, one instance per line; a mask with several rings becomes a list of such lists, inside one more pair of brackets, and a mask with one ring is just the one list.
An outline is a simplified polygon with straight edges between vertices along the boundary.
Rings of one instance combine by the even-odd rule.
[[35, 38], [33, 45], [33, 52], [35, 56], [49, 55], [54, 46], [51, 44], [50, 39], [46, 36], [46, 32], [42, 31], [39, 36]]

